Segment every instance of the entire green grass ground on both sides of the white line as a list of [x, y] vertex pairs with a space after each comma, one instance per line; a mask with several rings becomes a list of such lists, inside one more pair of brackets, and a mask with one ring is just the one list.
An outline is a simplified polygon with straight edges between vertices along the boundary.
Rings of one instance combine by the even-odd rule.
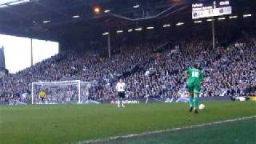
[[[256, 102], [0, 106], [0, 143], [84, 143], [256, 115]], [[254, 143], [256, 118], [100, 143]]]

